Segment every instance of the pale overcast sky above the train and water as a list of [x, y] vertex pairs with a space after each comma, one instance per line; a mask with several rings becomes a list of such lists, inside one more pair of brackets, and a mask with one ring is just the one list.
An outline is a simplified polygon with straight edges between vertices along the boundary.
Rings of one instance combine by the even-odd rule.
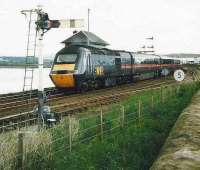
[[[20, 13], [42, 5], [50, 19], [84, 18], [90, 8], [90, 31], [110, 48], [137, 51], [144, 44], [156, 52], [200, 53], [200, 0], [1, 0], [0, 55], [24, 56], [27, 20]], [[52, 29], [44, 54], [54, 54], [73, 29]], [[153, 42], [146, 37], [154, 36]]]

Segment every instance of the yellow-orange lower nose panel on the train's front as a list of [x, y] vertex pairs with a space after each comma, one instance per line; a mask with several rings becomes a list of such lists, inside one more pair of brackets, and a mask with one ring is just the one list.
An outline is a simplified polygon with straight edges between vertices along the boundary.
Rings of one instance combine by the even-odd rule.
[[61, 87], [61, 88], [75, 87], [73, 74], [50, 74], [50, 77], [56, 87]]

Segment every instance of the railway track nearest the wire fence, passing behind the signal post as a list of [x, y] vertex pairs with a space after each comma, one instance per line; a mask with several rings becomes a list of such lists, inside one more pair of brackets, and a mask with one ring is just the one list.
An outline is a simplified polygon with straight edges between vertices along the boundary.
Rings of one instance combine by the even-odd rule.
[[[164, 86], [172, 83], [174, 83], [174, 81], [164, 79], [145, 80], [134, 84], [90, 91], [84, 94], [71, 94], [67, 96], [64, 94], [55, 94], [48, 99], [47, 103], [50, 105], [53, 112], [59, 117], [62, 117], [69, 113], [82, 111], [88, 107], [119, 102], [133, 93], [141, 92], [145, 89], [158, 88], [162, 85]], [[19, 103], [20, 105], [10, 105], [9, 107], [13, 107], [9, 109], [10, 114], [0, 118], [0, 131], [15, 129], [19, 126], [33, 124], [37, 121], [37, 114], [34, 114], [35, 111], [27, 110], [27, 104], [22, 105], [21, 102]], [[32, 104], [34, 105], [34, 102], [32, 102]], [[15, 110], [15, 112], [12, 110]]]

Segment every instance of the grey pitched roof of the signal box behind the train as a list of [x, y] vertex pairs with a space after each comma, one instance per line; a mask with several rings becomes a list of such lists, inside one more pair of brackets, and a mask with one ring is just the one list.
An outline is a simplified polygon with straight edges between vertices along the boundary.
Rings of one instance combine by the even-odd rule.
[[67, 45], [87, 45], [88, 42], [90, 45], [97, 47], [105, 47], [109, 45], [108, 42], [104, 41], [94, 33], [88, 31], [79, 31], [61, 43]]

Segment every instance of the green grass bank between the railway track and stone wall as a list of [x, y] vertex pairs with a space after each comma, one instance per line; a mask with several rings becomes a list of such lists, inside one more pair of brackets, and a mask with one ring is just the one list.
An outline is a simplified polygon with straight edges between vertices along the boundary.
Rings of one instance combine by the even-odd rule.
[[[30, 160], [29, 169], [149, 169], [182, 110], [188, 105], [199, 83], [149, 90], [131, 96], [103, 111], [103, 139], [100, 114], [73, 116], [72, 151], [69, 151], [69, 121], [48, 130], [52, 135], [51, 155]], [[162, 94], [162, 95], [161, 95]], [[153, 108], [152, 108], [153, 96]], [[141, 112], [138, 114], [138, 101]], [[124, 122], [122, 126], [122, 106]], [[45, 159], [43, 159], [43, 157]], [[48, 159], [46, 159], [48, 158]], [[40, 160], [40, 161], [39, 161]], [[32, 162], [32, 164], [31, 164]]]

